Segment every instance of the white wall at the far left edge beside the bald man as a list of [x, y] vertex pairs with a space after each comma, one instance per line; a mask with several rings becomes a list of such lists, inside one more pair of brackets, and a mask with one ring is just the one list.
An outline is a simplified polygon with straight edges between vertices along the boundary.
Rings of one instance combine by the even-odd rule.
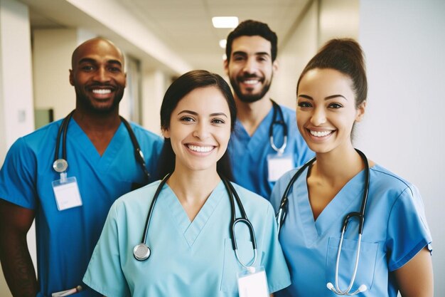
[[[0, 165], [9, 146], [34, 128], [32, 85], [28, 7], [0, 0]], [[35, 237], [31, 227], [28, 245], [33, 251]], [[36, 254], [31, 257], [36, 263]], [[11, 296], [1, 269], [0, 296]]]

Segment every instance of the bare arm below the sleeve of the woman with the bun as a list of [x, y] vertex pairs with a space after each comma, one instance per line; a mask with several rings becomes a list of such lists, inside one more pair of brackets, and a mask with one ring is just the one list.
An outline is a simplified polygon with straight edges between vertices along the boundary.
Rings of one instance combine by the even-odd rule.
[[403, 297], [434, 296], [433, 267], [426, 247], [407, 264], [394, 271], [394, 274]]

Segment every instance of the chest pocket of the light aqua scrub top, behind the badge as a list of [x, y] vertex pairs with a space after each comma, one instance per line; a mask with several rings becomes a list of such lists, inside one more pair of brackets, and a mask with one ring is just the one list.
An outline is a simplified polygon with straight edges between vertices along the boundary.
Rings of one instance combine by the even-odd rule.
[[[249, 264], [253, 259], [254, 252], [252, 249], [252, 241], [249, 239], [238, 238], [238, 256], [244, 264]], [[257, 247], [258, 248], [258, 247]], [[261, 263], [261, 251], [257, 251], [257, 261], [254, 266]], [[224, 240], [224, 266], [223, 277], [221, 279], [220, 291], [235, 294], [238, 296], [237, 273], [243, 271], [245, 268], [237, 261], [235, 251], [232, 249], [232, 240], [226, 238]]]

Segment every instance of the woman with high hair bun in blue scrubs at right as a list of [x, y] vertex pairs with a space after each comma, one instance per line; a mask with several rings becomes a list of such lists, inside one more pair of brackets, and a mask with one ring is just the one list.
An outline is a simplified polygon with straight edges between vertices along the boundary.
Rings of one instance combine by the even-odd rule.
[[[365, 190], [365, 159], [351, 140], [366, 109], [367, 79], [358, 43], [326, 43], [304, 68], [296, 93], [297, 125], [316, 161], [290, 188], [279, 240], [292, 283], [277, 296], [336, 296], [334, 291], [348, 291], [359, 246], [358, 219], [351, 219], [336, 269], [343, 218], [360, 211]], [[431, 234], [419, 191], [375, 162], [368, 165], [360, 258], [348, 294], [433, 296]], [[295, 173], [288, 172], [274, 187], [271, 202], [277, 211]]]

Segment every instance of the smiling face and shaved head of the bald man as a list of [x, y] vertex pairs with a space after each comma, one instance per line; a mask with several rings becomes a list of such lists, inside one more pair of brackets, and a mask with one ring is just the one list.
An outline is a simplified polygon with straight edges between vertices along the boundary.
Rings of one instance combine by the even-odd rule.
[[118, 110], [127, 83], [122, 53], [108, 41], [95, 38], [73, 53], [70, 84], [76, 92], [76, 108], [95, 113]]

